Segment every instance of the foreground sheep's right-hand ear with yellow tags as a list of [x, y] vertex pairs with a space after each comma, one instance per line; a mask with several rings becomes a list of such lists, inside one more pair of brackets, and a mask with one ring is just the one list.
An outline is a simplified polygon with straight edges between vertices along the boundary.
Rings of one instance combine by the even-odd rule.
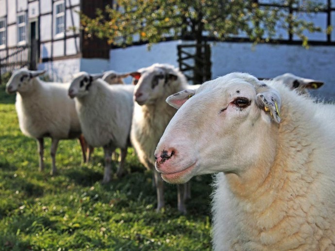
[[262, 92], [257, 94], [256, 96], [256, 103], [261, 109], [265, 112], [268, 112], [272, 119], [280, 123], [280, 106], [281, 106], [281, 99], [279, 93], [276, 90], [268, 90], [266, 92]]

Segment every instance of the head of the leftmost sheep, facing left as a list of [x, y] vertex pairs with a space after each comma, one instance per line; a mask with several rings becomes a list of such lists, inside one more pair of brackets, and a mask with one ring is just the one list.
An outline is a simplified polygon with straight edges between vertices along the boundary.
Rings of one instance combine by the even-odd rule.
[[45, 70], [28, 70], [26, 67], [14, 71], [6, 84], [6, 92], [11, 94], [29, 91], [31, 89], [32, 80], [45, 72]]

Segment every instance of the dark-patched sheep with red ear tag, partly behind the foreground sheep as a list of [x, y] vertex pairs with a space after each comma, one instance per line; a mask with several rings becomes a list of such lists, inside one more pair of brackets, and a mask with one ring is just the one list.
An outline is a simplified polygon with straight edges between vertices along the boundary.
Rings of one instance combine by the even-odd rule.
[[[157, 191], [157, 211], [164, 207], [164, 183], [154, 169], [153, 153], [176, 110], [169, 106], [166, 98], [186, 88], [184, 75], [175, 67], [167, 64], [153, 64], [131, 73], [138, 80], [134, 90], [134, 117], [131, 142], [140, 162], [153, 170]], [[178, 186], [178, 210], [185, 213], [187, 185]]]

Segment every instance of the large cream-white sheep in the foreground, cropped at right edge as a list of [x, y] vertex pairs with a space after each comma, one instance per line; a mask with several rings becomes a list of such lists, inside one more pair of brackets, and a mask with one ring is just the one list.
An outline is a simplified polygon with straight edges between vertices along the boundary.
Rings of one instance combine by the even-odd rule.
[[335, 250], [335, 106], [246, 73], [167, 101], [156, 168], [176, 184], [218, 173], [215, 250]]

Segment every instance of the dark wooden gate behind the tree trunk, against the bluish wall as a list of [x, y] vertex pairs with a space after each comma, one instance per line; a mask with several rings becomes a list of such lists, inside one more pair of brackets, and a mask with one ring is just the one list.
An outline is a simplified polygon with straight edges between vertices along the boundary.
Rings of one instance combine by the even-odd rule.
[[179, 69], [190, 84], [202, 84], [211, 79], [212, 63], [209, 44], [178, 45], [177, 49]]

